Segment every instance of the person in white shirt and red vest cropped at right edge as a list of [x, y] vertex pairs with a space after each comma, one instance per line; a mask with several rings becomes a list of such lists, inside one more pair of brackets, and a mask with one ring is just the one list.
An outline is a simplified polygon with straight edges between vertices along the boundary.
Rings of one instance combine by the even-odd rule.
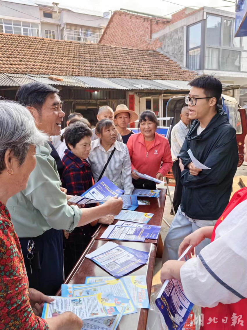
[[189, 252], [194, 253], [195, 246], [210, 238], [211, 243], [196, 258], [169, 260], [162, 267], [162, 282], [176, 278], [188, 300], [202, 306], [200, 330], [247, 328], [246, 212], [245, 187], [233, 195], [214, 227], [202, 227], [180, 244], [179, 255], [190, 245]]

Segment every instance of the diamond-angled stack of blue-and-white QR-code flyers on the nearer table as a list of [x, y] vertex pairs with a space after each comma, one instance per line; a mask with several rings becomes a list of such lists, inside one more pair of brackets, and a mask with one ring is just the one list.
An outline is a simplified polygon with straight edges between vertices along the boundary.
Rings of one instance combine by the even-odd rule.
[[148, 252], [135, 250], [114, 242], [107, 242], [94, 252], [86, 254], [114, 277], [122, 277], [147, 263]]

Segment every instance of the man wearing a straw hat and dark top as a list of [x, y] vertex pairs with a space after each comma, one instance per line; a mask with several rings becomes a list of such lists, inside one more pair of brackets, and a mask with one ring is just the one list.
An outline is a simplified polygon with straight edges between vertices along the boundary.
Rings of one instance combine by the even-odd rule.
[[129, 123], [135, 122], [138, 118], [137, 113], [129, 110], [125, 104], [119, 104], [117, 106], [114, 112], [114, 123], [125, 144], [127, 144], [130, 135], [134, 134], [127, 126]]

